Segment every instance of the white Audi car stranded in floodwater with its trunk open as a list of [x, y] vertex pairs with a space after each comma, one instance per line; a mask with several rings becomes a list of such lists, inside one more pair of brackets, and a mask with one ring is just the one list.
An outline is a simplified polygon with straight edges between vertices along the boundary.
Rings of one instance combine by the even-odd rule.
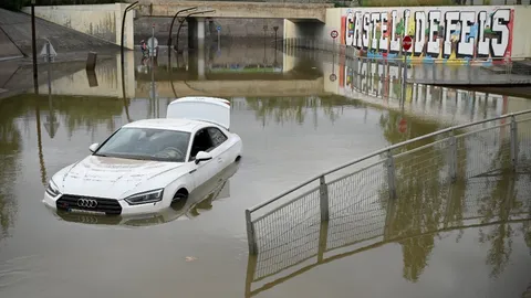
[[124, 125], [92, 155], [61, 169], [43, 202], [92, 214], [156, 213], [240, 159], [241, 138], [229, 131], [230, 102], [183, 97], [166, 118]]

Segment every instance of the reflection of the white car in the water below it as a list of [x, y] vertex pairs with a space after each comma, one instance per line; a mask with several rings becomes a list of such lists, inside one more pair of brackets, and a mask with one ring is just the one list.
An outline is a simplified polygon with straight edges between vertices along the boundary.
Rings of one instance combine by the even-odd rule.
[[210, 210], [215, 200], [230, 196], [229, 179], [238, 171], [240, 161], [232, 162], [209, 181], [194, 190], [187, 199], [173, 203], [168, 209], [154, 214], [139, 215], [87, 215], [66, 211], [53, 212], [61, 220], [82, 224], [148, 226], [179, 220], [191, 220], [199, 215], [198, 210]]

